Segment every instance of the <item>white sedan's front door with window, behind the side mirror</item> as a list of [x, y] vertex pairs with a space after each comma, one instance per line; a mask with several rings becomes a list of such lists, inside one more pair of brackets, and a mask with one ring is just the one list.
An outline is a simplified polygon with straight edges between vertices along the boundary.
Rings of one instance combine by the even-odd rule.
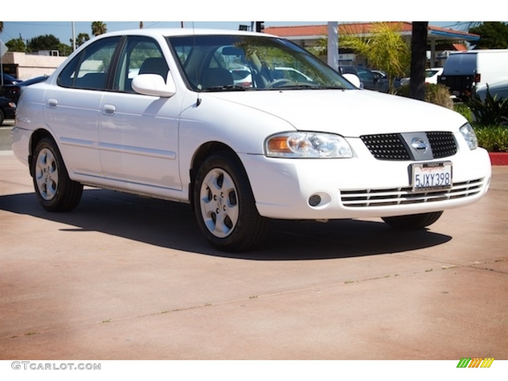
[[[158, 43], [129, 37], [119, 56], [113, 91], [104, 94], [99, 116], [99, 148], [104, 175], [122, 187], [160, 193], [181, 189], [178, 172], [178, 94], [171, 98], [136, 93], [138, 74], [168, 75]], [[151, 190], [150, 190], [151, 188]]]

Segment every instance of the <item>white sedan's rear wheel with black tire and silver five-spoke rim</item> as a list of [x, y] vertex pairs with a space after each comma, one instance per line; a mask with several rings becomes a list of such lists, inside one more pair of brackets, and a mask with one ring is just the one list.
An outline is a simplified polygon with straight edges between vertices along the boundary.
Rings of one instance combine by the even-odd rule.
[[68, 212], [81, 200], [83, 185], [69, 178], [55, 142], [43, 138], [32, 159], [32, 178], [39, 203], [50, 212]]

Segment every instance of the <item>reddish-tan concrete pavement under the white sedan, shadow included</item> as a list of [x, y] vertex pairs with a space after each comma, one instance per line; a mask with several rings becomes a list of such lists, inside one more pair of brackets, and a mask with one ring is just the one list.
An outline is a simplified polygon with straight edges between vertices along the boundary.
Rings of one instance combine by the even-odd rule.
[[0, 360], [508, 359], [508, 167], [428, 231], [274, 221], [211, 249], [190, 207], [87, 188], [37, 203], [0, 152]]

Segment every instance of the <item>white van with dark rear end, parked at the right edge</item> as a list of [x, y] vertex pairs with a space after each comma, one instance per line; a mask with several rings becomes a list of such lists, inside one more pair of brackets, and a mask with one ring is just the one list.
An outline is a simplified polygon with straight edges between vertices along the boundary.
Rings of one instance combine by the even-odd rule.
[[450, 53], [438, 83], [463, 98], [504, 79], [508, 79], [508, 49], [468, 50]]

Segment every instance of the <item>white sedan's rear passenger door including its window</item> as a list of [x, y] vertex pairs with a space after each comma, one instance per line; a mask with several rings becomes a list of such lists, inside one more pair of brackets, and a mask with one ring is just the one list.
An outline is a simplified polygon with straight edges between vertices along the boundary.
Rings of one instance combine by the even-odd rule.
[[101, 39], [74, 57], [45, 94], [44, 118], [69, 171], [102, 177], [99, 110], [120, 37]]

